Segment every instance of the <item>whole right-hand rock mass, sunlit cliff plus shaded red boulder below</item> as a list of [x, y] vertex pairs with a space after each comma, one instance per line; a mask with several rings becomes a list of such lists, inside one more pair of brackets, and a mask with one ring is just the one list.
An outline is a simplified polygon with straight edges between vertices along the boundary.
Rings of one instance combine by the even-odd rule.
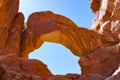
[[92, 30], [101, 35], [103, 45], [81, 56], [79, 64], [82, 75], [97, 74], [105, 78], [112, 75], [120, 64], [120, 1], [90, 0], [90, 4], [92, 11], [96, 14]]

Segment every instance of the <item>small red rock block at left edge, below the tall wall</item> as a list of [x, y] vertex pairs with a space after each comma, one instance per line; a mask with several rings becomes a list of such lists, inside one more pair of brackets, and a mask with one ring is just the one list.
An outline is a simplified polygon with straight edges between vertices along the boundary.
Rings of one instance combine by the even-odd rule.
[[14, 54], [0, 55], [0, 65], [5, 71], [19, 71], [20, 72], [20, 61]]

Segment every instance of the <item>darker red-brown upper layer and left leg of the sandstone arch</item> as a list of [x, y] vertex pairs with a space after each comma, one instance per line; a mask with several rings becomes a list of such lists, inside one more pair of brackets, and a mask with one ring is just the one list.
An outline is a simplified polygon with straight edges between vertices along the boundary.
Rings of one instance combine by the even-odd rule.
[[61, 28], [59, 26], [63, 28], [76, 27], [76, 25], [68, 18], [55, 15], [50, 11], [31, 14], [23, 37], [22, 56], [24, 55], [24, 57], [27, 57], [29, 52], [42, 45], [43, 41], [40, 40], [42, 34], [57, 31]]

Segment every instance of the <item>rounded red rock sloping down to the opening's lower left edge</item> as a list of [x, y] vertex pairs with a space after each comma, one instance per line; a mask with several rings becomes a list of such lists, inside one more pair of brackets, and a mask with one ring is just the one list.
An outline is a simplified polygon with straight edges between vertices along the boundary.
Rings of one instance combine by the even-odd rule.
[[[21, 71], [33, 78], [41, 77], [42, 80], [47, 80], [48, 77], [52, 76], [48, 70], [47, 65], [35, 59], [20, 59]], [[36, 75], [36, 76], [35, 76]]]

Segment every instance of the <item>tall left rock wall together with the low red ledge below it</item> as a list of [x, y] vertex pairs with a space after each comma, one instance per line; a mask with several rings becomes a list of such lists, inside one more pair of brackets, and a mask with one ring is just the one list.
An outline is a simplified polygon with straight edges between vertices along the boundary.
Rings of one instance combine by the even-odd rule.
[[44, 63], [19, 57], [24, 16], [18, 12], [18, 3], [0, 1], [0, 80], [47, 80], [52, 74]]

